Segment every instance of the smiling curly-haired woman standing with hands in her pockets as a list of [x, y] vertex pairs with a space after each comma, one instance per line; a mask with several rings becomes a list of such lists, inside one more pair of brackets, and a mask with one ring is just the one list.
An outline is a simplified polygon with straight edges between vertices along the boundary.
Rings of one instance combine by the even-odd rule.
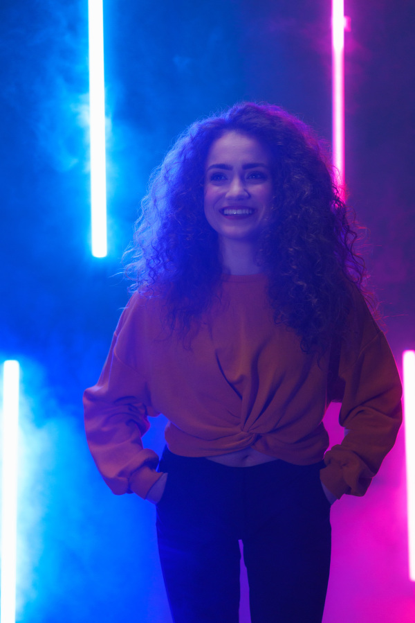
[[[157, 504], [175, 622], [237, 622], [238, 539], [252, 623], [320, 622], [330, 505], [365, 493], [401, 420], [326, 159], [279, 107], [235, 105], [176, 141], [142, 210], [137, 291], [85, 392], [91, 453], [114, 493]], [[347, 435], [326, 452], [331, 401]], [[159, 412], [158, 464], [141, 436]]]

